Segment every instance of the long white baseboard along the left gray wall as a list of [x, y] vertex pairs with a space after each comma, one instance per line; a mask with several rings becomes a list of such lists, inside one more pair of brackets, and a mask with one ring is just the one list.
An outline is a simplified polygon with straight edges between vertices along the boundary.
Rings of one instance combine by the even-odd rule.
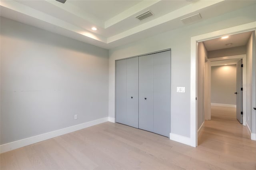
[[83, 129], [83, 128], [98, 125], [100, 123], [107, 122], [108, 120], [109, 120], [108, 117], [104, 117], [104, 118], [97, 119], [97, 120], [94, 120], [94, 121], [81, 123], [79, 125], [74, 125], [74, 126], [71, 126], [71, 127], [62, 128], [62, 129], [59, 129], [59, 130], [54, 130], [52, 132], [47, 132], [47, 133], [44, 133], [44, 134], [39, 134], [39, 135], [32, 136], [32, 137], [29, 137], [29, 138], [24, 138], [24, 139], [21, 139], [21, 140], [16, 140], [14, 142], [2, 144], [2, 145], [0, 145], [0, 153], [8, 152], [10, 150], [21, 148], [23, 146], [27, 146], [27, 145], [34, 144], [34, 143], [37, 143], [37, 142], [41, 142], [43, 140], [54, 138], [56, 136], [60, 136], [60, 135], [63, 135], [63, 134], [74, 132], [76, 130], [80, 130], [80, 129]]

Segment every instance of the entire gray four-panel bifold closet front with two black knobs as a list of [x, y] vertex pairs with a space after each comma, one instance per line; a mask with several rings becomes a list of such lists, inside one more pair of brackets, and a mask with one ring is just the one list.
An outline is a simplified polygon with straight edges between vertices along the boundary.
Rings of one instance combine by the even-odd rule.
[[116, 122], [170, 135], [171, 51], [116, 61]]

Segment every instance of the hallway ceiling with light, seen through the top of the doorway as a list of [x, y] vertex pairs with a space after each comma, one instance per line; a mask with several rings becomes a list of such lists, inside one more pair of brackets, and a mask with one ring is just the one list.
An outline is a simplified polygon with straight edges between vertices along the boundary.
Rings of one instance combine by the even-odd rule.
[[212, 40], [204, 41], [204, 46], [207, 51], [213, 51], [217, 49], [239, 47], [246, 45], [252, 32], [243, 32], [240, 34], [226, 35], [228, 38], [214, 38]]

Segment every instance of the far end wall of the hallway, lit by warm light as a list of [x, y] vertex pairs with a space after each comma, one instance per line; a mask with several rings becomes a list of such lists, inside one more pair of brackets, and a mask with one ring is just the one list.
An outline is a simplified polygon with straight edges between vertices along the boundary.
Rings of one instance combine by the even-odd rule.
[[211, 103], [236, 105], [236, 64], [212, 66]]

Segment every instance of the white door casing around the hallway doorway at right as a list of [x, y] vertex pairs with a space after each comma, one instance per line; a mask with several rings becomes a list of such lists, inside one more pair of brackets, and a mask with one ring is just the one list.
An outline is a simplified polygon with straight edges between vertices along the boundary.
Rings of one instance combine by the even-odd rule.
[[[188, 142], [186, 142], [187, 144], [189, 144], [190, 146], [194, 146], [197, 147], [197, 140], [198, 140], [198, 116], [197, 116], [197, 106], [198, 106], [198, 102], [197, 102], [197, 45], [198, 42], [202, 42], [205, 40], [210, 40], [210, 39], [214, 39], [214, 38], [220, 38], [222, 36], [227, 36], [227, 35], [232, 35], [232, 34], [238, 34], [238, 33], [242, 33], [242, 32], [249, 32], [252, 31], [254, 33], [254, 36], [252, 36], [252, 43], [255, 43], [255, 27], [256, 22], [251, 22], [251, 23], [247, 23], [247, 24], [242, 24], [240, 26], [234, 26], [234, 27], [230, 27], [230, 28], [226, 28], [223, 30], [218, 30], [215, 32], [210, 32], [207, 34], [201, 34], [198, 36], [194, 36], [191, 37], [191, 55], [190, 55], [190, 137], [187, 138]], [[252, 45], [252, 48], [254, 49], [254, 45]], [[255, 49], [254, 49], [255, 50]], [[252, 59], [254, 62], [254, 57], [255, 54], [252, 53]], [[225, 58], [225, 57], [223, 57]], [[249, 61], [249, 60], [248, 60]], [[252, 64], [251, 64], [252, 65]], [[252, 68], [255, 69], [255, 65], [252, 65]], [[246, 77], [247, 79], [248, 77]], [[252, 79], [252, 82], [255, 81], [256, 77], [253, 77], [252, 74], [250, 75], [250, 78]], [[246, 88], [248, 89], [248, 88]], [[254, 88], [251, 87], [249, 89], [249, 91], [247, 90], [247, 92], [250, 92], [252, 94], [252, 91], [254, 91]], [[247, 94], [246, 92], [246, 94]], [[254, 95], [252, 95], [252, 103], [254, 104]], [[246, 101], [246, 104], [248, 103], [248, 101]], [[249, 103], [250, 104], [250, 103]], [[246, 106], [246, 110], [247, 109], [252, 109], [251, 108], [252, 105], [248, 105]], [[249, 113], [249, 112], [248, 112]], [[250, 112], [252, 113], [252, 112]], [[252, 114], [251, 114], [252, 116]], [[249, 116], [248, 116], [249, 117]], [[246, 117], [246, 119], [248, 119], [248, 117]], [[251, 139], [255, 140], [255, 136], [253, 136], [254, 131], [255, 131], [255, 123], [256, 123], [256, 119], [254, 116], [251, 117], [250, 121], [252, 122], [251, 125], [249, 125], [249, 127], [252, 128], [251, 131]], [[247, 123], [247, 122], [246, 122]], [[255, 126], [255, 127], [254, 127]], [[246, 127], [247, 124], [246, 124]]]

